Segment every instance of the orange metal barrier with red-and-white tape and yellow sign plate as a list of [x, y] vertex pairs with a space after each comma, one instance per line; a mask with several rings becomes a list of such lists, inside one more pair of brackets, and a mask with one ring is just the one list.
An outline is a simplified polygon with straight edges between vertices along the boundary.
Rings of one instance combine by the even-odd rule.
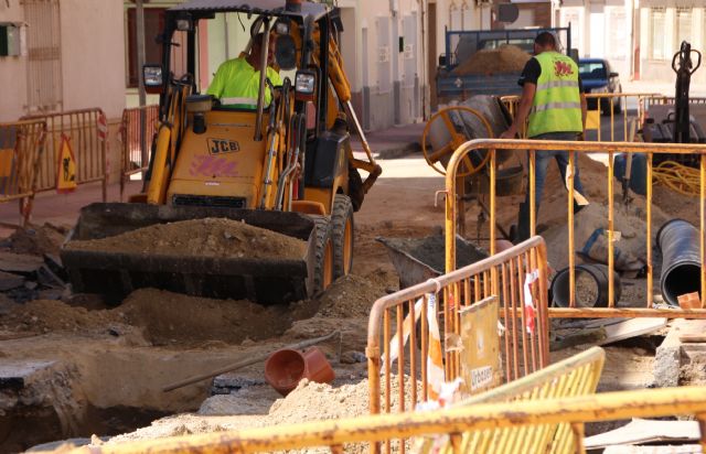
[[[532, 283], [534, 279], [535, 283]], [[430, 327], [426, 318], [430, 304], [434, 315], [441, 315], [443, 331], [440, 348], [445, 381], [461, 376], [461, 356], [453, 338], [461, 335], [460, 310], [491, 298], [499, 298], [500, 321], [504, 331], [500, 336], [500, 353], [505, 381], [515, 380], [549, 364], [549, 324], [547, 317], [546, 249], [541, 237], [534, 237], [501, 253], [475, 262], [458, 271], [425, 283], [400, 290], [375, 302], [367, 328], [367, 365], [371, 413], [413, 410], [420, 401], [429, 400], [431, 390]], [[435, 306], [430, 298], [439, 296]], [[410, 321], [421, 314], [420, 333], [405, 326], [405, 313]], [[393, 339], [392, 326], [396, 325]], [[405, 345], [406, 333], [409, 345]], [[419, 344], [417, 336], [420, 337]], [[419, 348], [419, 349], [418, 349]], [[394, 352], [394, 355], [391, 354]], [[393, 358], [397, 368], [393, 369]], [[396, 377], [393, 377], [393, 371]], [[382, 381], [382, 385], [381, 385]], [[396, 409], [392, 401], [396, 385]], [[420, 389], [419, 389], [420, 387]], [[408, 391], [408, 392], [407, 392]], [[381, 403], [384, 402], [384, 404]]]

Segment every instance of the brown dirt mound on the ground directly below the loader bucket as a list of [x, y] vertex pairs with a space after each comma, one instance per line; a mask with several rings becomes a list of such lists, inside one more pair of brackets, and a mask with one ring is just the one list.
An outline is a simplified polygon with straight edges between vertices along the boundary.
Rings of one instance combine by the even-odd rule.
[[125, 313], [127, 321], [143, 329], [156, 345], [228, 344], [245, 338], [264, 339], [284, 332], [290, 320], [282, 307], [264, 307], [249, 301], [213, 300], [162, 290], [132, 292], [111, 312]]

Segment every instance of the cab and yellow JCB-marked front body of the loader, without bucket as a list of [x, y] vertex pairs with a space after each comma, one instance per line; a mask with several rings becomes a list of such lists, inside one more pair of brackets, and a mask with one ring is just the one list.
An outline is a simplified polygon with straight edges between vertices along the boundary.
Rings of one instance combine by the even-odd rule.
[[[162, 62], [145, 67], [146, 87], [160, 94], [161, 125], [170, 130], [167, 138], [160, 129], [156, 140], [148, 202], [330, 215], [335, 195], [350, 192], [352, 155], [343, 109], [329, 82], [334, 11], [286, 0], [217, 4], [193, 0], [168, 10], [159, 37]], [[239, 55], [200, 52], [199, 36], [226, 23], [237, 25], [228, 28], [238, 35], [229, 35], [227, 45], [239, 44]], [[258, 34], [263, 40], [255, 43]], [[249, 102], [206, 94], [218, 65], [254, 45], [266, 67], [270, 42], [281, 85], [259, 72]], [[156, 179], [161, 184], [153, 184]]]

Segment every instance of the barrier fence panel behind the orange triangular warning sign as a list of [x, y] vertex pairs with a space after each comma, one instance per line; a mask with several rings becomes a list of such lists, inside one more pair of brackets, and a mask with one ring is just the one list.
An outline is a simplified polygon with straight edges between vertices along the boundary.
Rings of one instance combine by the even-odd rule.
[[22, 117], [43, 120], [47, 126], [46, 153], [40, 160], [36, 191], [56, 188], [57, 159], [62, 134], [69, 139], [76, 159], [76, 184], [103, 183], [103, 201], [108, 192], [108, 123], [99, 108], [67, 110]]

